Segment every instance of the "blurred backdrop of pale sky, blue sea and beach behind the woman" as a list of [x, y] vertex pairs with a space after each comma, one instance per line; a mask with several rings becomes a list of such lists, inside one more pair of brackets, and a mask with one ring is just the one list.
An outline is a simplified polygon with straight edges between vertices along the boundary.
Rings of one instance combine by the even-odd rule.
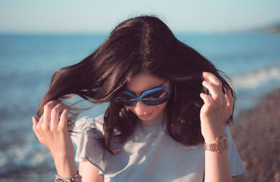
[[118, 23], [137, 15], [158, 16], [230, 76], [237, 92], [231, 130], [247, 169], [239, 181], [279, 181], [279, 7], [279, 0], [1, 0], [0, 181], [54, 180], [52, 156], [31, 122], [52, 73], [80, 62]]

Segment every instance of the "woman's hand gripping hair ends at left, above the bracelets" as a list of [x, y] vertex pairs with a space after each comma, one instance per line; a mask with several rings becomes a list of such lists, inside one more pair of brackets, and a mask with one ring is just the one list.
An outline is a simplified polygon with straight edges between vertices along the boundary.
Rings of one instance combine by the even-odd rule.
[[68, 116], [66, 106], [59, 100], [53, 100], [45, 104], [40, 120], [32, 117], [36, 137], [50, 149], [54, 159], [73, 156], [74, 148], [67, 129]]

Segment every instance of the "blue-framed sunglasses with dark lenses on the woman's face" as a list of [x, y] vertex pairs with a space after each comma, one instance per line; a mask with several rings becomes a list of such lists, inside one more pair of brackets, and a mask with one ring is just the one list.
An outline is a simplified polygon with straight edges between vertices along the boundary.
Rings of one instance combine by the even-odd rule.
[[136, 97], [132, 92], [120, 92], [113, 101], [123, 106], [135, 106], [138, 101], [148, 106], [157, 106], [167, 102], [172, 92], [172, 84], [169, 87], [155, 87], [145, 91], [140, 97]]

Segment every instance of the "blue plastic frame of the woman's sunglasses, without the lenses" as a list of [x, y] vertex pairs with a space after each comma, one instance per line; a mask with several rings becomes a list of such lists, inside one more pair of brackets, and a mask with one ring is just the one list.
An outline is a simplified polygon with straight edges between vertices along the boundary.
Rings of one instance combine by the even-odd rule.
[[[158, 92], [160, 90], [165, 90], [168, 94], [168, 97], [167, 97], [167, 100], [165, 102], [168, 101], [169, 97], [171, 96], [171, 93], [172, 93], [172, 83], [169, 84], [169, 87], [155, 87], [151, 90], [146, 90], [145, 92], [143, 92], [143, 94], [141, 94], [140, 97], [136, 97], [132, 92], [128, 92], [128, 91], [123, 91], [123, 94], [127, 94], [131, 97], [133, 97], [135, 99], [135, 102], [133, 105], [124, 105], [124, 106], [136, 106], [137, 102], [138, 101], [141, 101], [143, 102], [144, 104], [146, 104], [144, 101], [143, 101], [143, 97], [145, 97], [147, 94], [151, 94], [153, 92]], [[165, 102], [162, 102], [160, 104], [163, 104]], [[158, 106], [160, 104], [146, 104], [147, 106]]]

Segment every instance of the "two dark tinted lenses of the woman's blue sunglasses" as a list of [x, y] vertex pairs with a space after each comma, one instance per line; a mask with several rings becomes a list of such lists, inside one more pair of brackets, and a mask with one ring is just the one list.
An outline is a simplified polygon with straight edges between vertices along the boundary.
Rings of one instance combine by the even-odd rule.
[[[132, 97], [129, 93], [130, 92], [120, 92], [118, 96], [115, 97], [114, 101], [123, 106], [135, 106], [137, 99]], [[167, 90], [163, 88], [162, 90], [155, 90], [155, 92], [144, 94], [141, 100], [146, 105], [156, 106], [167, 102], [168, 98], [169, 94]]]

